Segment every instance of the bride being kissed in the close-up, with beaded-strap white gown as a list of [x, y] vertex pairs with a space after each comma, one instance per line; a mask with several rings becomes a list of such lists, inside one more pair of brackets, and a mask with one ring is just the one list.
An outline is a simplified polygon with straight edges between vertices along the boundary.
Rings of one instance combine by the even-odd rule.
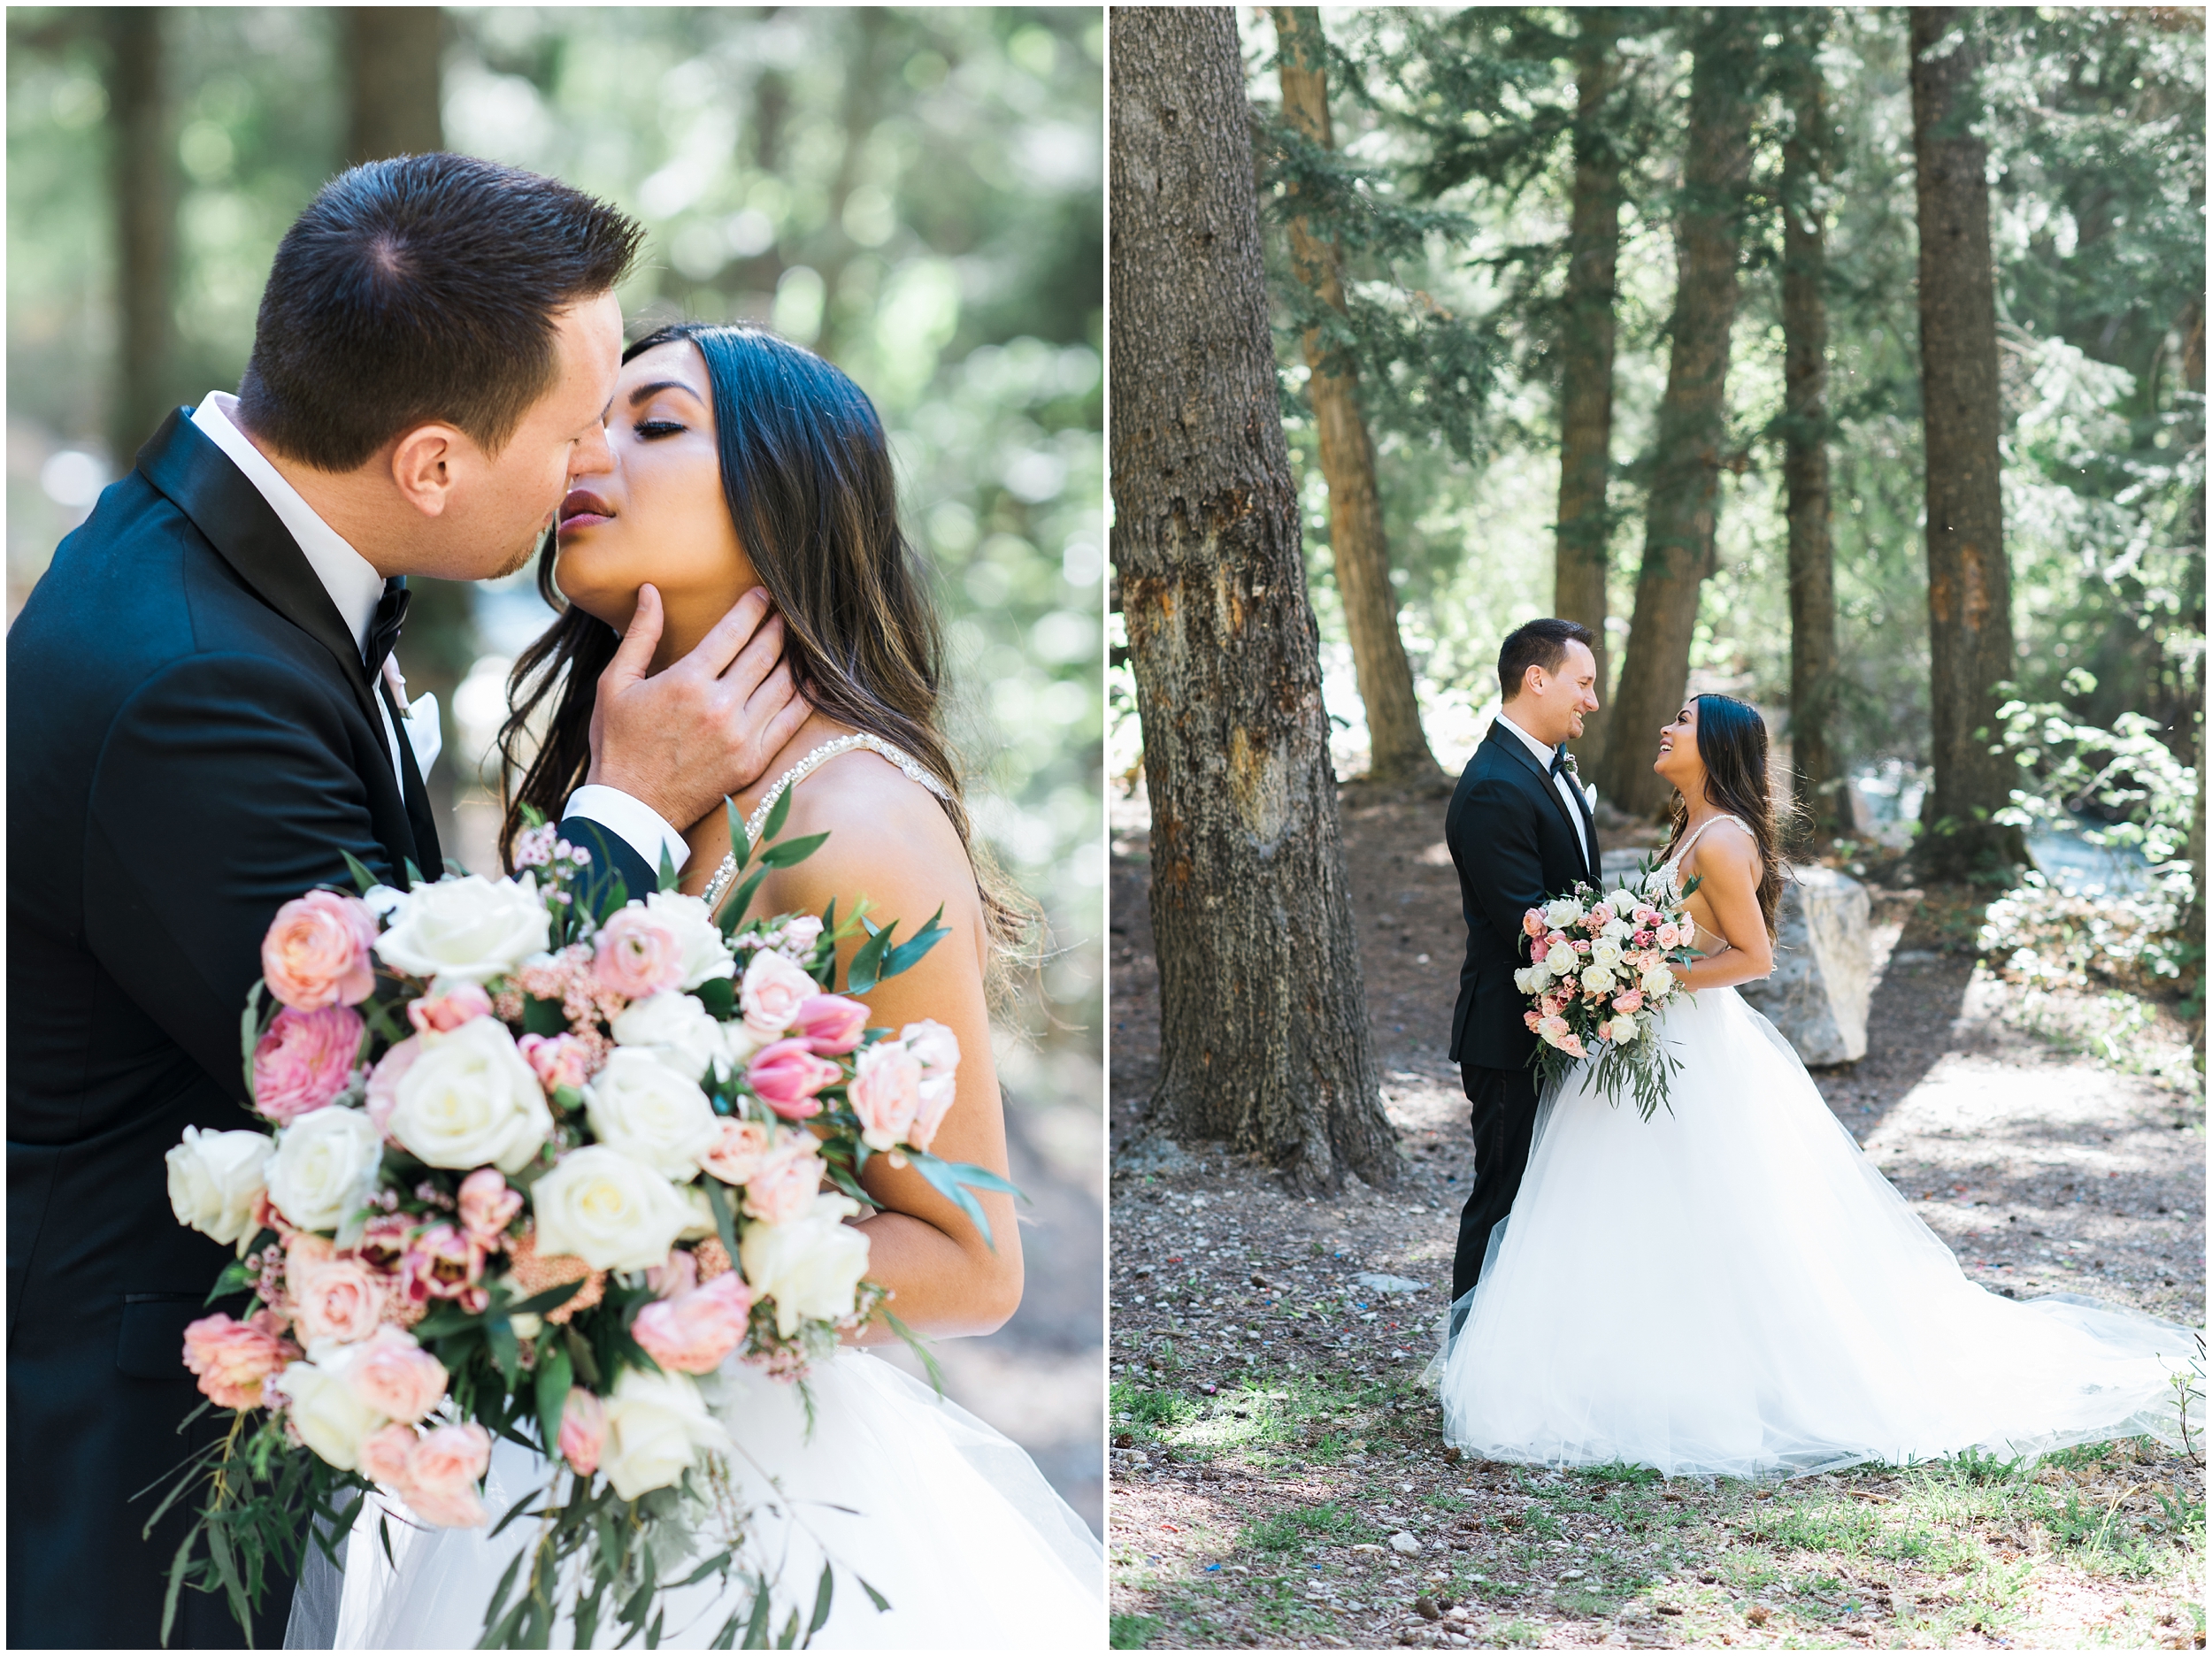
[[[949, 935], [863, 999], [874, 1024], [938, 1019], [953, 1030], [958, 1092], [933, 1150], [1004, 1174], [987, 986], [1024, 929], [1024, 900], [969, 847], [938, 732], [936, 615], [898, 531], [876, 411], [852, 380], [794, 345], [752, 329], [675, 327], [630, 347], [606, 436], [613, 469], [577, 480], [562, 506], [557, 562], [540, 568], [540, 588], [566, 610], [515, 668], [507, 752], [520, 758], [529, 745], [531, 761], [507, 845], [522, 803], [557, 818], [571, 789], [593, 780], [593, 696], [622, 681], [599, 674], [633, 615], [650, 632], [657, 612], [653, 665], [666, 668], [741, 593], [765, 588], [812, 714], [737, 807], [759, 831], [790, 792], [781, 838], [830, 838], [812, 858], [774, 869], [752, 913], [818, 915], [832, 900], [852, 913], [865, 895], [878, 922], [896, 918], [914, 935], [942, 904]], [[730, 876], [723, 814], [686, 840], [681, 889], [719, 900]], [[876, 1156], [863, 1183], [878, 1207], [856, 1220], [869, 1240], [867, 1274], [891, 1289], [911, 1329], [989, 1333], [1013, 1313], [1022, 1254], [1011, 1198], [980, 1196], [993, 1249], [916, 1170]], [[754, 1514], [752, 1557], [779, 1583], [770, 1638], [794, 1610], [805, 1627], [827, 1561], [836, 1596], [816, 1647], [1102, 1647], [1097, 1539], [1015, 1444], [856, 1349], [891, 1338], [869, 1322], [854, 1346], [814, 1369], [812, 1424], [794, 1386], [737, 1358], [703, 1382], [734, 1442], [726, 1464]], [[546, 1475], [540, 1455], [500, 1442], [484, 1488], [493, 1526]], [[378, 1534], [385, 1510], [396, 1514], [389, 1559]], [[504, 1534], [431, 1530], [394, 1497], [374, 1497], [347, 1541], [343, 1581], [310, 1548], [288, 1643], [476, 1645], [484, 1607], [533, 1530], [529, 1519]], [[661, 1570], [664, 1581], [684, 1574], [688, 1565]], [[706, 1645], [732, 1607], [745, 1607], [712, 1579], [666, 1592], [661, 1605], [666, 1647]], [[599, 1643], [608, 1638], [602, 1629]], [[564, 1641], [573, 1627], [555, 1629]]]

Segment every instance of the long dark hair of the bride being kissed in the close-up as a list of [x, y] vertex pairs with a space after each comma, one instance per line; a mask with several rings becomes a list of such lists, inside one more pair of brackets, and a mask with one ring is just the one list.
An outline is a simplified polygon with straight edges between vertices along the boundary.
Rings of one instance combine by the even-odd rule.
[[[783, 659], [799, 694], [843, 725], [905, 747], [945, 787], [940, 805], [967, 847], [993, 944], [1033, 931], [1035, 904], [975, 845], [960, 772], [940, 730], [945, 641], [929, 577], [898, 526], [891, 451], [874, 402], [814, 352], [757, 327], [681, 323], [622, 354], [690, 340], [714, 398], [721, 491], [737, 542], [783, 617]], [[500, 860], [513, 869], [522, 807], [557, 818], [591, 767], [591, 708], [619, 635], [553, 584], [557, 546], [538, 557], [538, 593], [560, 619], [507, 677], [500, 727], [507, 820]], [[553, 701], [544, 738], [531, 719]], [[520, 774], [520, 783], [511, 785]]]

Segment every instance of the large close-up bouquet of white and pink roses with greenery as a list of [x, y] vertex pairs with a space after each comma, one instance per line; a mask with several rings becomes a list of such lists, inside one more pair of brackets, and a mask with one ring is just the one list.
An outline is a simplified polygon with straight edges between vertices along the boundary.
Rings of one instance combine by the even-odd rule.
[[[920, 960], [938, 918], [909, 942], [834, 904], [743, 920], [768, 869], [825, 838], [770, 845], [787, 803], [759, 845], [732, 809], [752, 873], [719, 922], [666, 860], [659, 891], [633, 902], [617, 880], [593, 913], [588, 853], [535, 818], [518, 878], [396, 891], [347, 858], [358, 893], [276, 913], [243, 1017], [263, 1123], [188, 1128], [168, 1152], [179, 1223], [239, 1251], [210, 1302], [250, 1300], [186, 1329], [201, 1413], [230, 1430], [155, 1510], [197, 1497], [164, 1641], [184, 1585], [226, 1592], [243, 1625], [301, 1537], [334, 1548], [372, 1486], [425, 1526], [487, 1523], [507, 1437], [549, 1484], [502, 1521], [538, 1539], [487, 1645], [546, 1645], [571, 1614], [577, 1645], [608, 1616], [653, 1645], [657, 1594], [712, 1574], [750, 1585], [750, 1625], [732, 1614], [719, 1643], [770, 1643], [772, 1574], [701, 1384], [732, 1355], [803, 1384], [872, 1316], [907, 1333], [845, 1225], [869, 1156], [918, 1167], [987, 1238], [971, 1189], [1013, 1189], [929, 1154], [951, 1030], [867, 1028], [849, 999]], [[832, 1585], [825, 1568], [814, 1627]], [[814, 1627], [792, 1612], [783, 1643]]]

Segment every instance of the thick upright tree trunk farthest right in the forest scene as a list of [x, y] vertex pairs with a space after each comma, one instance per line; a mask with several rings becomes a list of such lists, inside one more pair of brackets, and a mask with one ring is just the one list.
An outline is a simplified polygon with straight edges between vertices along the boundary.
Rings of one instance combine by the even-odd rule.
[[1997, 298], [1989, 259], [1989, 146], [1973, 135], [1980, 49], [1960, 7], [1913, 7], [1913, 166], [1920, 210], [1920, 402], [1927, 422], [1929, 712], [1936, 780], [1916, 862], [1960, 878], [2017, 862], [1993, 754], [1995, 688], [2013, 674], [2013, 597], [1997, 486]]

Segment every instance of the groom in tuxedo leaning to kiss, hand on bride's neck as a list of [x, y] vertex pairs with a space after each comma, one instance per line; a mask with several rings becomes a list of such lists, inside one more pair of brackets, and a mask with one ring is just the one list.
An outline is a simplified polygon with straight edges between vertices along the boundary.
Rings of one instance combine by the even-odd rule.
[[[392, 884], [445, 869], [385, 672], [405, 577], [520, 568], [606, 467], [637, 241], [487, 161], [341, 175], [276, 252], [239, 396], [168, 418], [9, 632], [9, 1645], [159, 1638], [186, 1514], [148, 1541], [139, 1492], [221, 1430], [177, 1426], [230, 1254], [170, 1214], [164, 1152], [252, 1125], [239, 1015], [276, 906], [349, 889], [341, 851]], [[763, 612], [646, 679], [648, 588], [599, 681], [562, 827], [633, 893], [805, 719]], [[173, 1643], [243, 1634], [186, 1592]]]

